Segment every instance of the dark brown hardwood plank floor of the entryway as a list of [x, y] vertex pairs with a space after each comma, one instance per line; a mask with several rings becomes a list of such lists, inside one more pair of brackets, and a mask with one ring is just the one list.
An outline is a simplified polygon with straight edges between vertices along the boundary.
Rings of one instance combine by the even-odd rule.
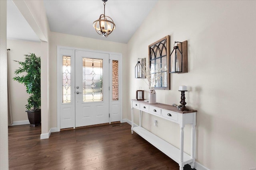
[[[101, 125], [52, 133], [40, 140], [41, 127], [11, 126], [10, 170], [178, 170], [176, 162], [142, 137], [131, 126]], [[190, 170], [186, 165], [184, 170]]]

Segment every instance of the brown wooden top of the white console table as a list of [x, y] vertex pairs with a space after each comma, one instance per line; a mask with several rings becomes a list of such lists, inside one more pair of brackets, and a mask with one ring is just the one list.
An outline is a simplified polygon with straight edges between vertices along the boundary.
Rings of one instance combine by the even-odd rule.
[[168, 105], [168, 104], [162, 104], [162, 103], [149, 104], [148, 102], [145, 102], [143, 100], [136, 100], [136, 99], [133, 99], [133, 101], [136, 101], [136, 102], [141, 103], [141, 104], [146, 104], [146, 105], [152, 106], [152, 107], [160, 107], [162, 109], [170, 110], [170, 111], [175, 111], [175, 112], [178, 112], [178, 113], [193, 113], [193, 112], [197, 112], [197, 110], [193, 110], [193, 109], [190, 109], [189, 111], [180, 111], [177, 107], [172, 106], [172, 105]]

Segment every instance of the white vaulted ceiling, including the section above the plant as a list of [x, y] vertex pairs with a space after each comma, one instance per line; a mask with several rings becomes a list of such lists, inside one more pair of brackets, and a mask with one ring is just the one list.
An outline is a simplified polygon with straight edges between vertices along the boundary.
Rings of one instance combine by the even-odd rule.
[[[92, 23], [104, 13], [102, 0], [44, 0], [50, 30], [53, 32], [127, 43], [154, 7], [157, 0], [108, 0], [106, 16], [110, 16], [116, 29], [108, 36], [96, 33]], [[29, 33], [28, 23], [12, 1], [7, 3], [7, 38], [35, 40]]]

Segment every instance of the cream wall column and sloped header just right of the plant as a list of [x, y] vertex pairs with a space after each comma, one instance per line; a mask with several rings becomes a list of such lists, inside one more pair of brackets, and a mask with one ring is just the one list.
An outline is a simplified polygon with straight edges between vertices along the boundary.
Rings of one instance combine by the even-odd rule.
[[49, 55], [48, 55], [48, 35], [50, 28], [46, 17], [43, 1], [13, 0], [28, 24], [35, 31], [41, 40], [41, 139], [48, 138], [50, 130], [49, 112]]

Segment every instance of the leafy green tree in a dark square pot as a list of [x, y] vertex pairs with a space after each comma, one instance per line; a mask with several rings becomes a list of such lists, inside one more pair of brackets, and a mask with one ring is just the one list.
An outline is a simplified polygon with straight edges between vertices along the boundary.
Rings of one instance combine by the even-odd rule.
[[26, 75], [16, 76], [13, 80], [26, 86], [26, 92], [30, 94], [27, 100], [26, 112], [28, 113], [30, 126], [36, 126], [41, 123], [41, 59], [40, 57], [36, 57], [34, 53], [29, 53], [29, 55], [24, 56], [24, 62], [15, 61], [18, 62], [21, 67], [15, 70], [14, 73], [18, 75], [25, 72]]

